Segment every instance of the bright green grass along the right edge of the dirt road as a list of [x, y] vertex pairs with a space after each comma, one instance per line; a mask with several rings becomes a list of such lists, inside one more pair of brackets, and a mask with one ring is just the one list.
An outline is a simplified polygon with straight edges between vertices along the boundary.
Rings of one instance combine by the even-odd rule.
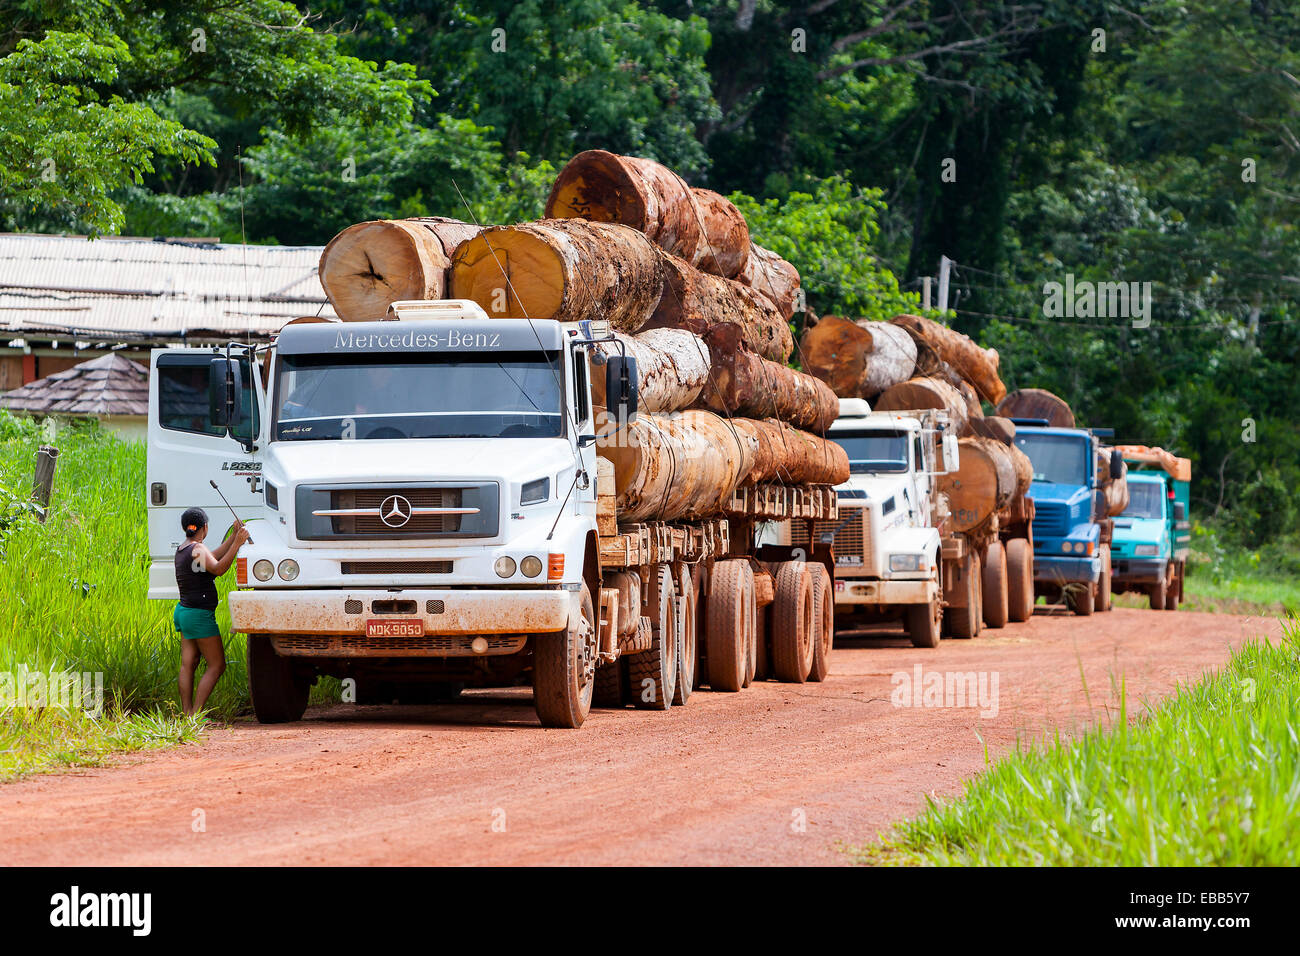
[[863, 864], [1295, 866], [1300, 622], [1156, 705], [1118, 688], [1112, 727], [1022, 744], [952, 801], [928, 800]]

